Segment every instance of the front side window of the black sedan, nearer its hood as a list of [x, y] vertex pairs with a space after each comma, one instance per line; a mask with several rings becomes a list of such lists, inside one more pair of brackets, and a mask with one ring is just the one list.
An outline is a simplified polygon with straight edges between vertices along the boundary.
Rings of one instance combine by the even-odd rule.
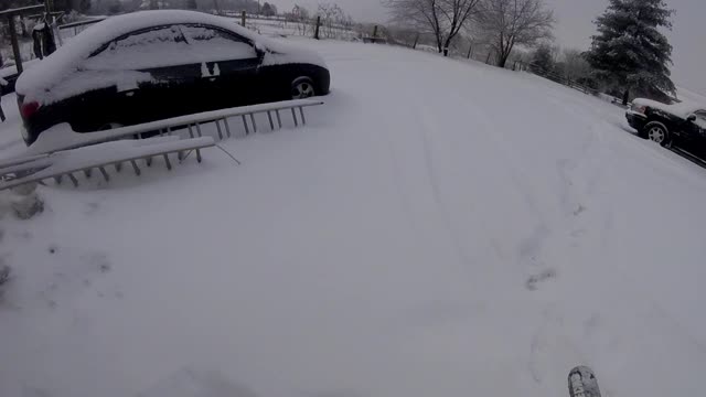
[[257, 57], [250, 41], [226, 30], [208, 25], [182, 25], [192, 56], [200, 62], [237, 61]]

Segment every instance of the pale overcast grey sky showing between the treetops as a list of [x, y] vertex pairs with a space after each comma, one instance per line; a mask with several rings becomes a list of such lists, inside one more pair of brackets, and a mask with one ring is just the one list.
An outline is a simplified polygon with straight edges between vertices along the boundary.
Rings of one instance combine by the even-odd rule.
[[[280, 10], [295, 3], [315, 9], [317, 0], [270, 0]], [[379, 0], [321, 0], [339, 3], [356, 21], [384, 22], [385, 8]], [[588, 49], [595, 33], [592, 20], [603, 12], [608, 0], [545, 0], [554, 9], [558, 23], [556, 40], [561, 46]], [[706, 95], [706, 0], [666, 0], [676, 10], [674, 30], [667, 32], [674, 46], [673, 78], [677, 85]]]

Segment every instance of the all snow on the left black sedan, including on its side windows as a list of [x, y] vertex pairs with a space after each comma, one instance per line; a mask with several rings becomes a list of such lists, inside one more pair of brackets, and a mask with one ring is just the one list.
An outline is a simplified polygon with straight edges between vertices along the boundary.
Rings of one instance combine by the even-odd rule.
[[[111, 85], [111, 76], [106, 76], [104, 84], [100, 84], [100, 79], [89, 79], [90, 83], [82, 84], [81, 90], [77, 92], [74, 88], [75, 84], [69, 81], [83, 79], [83, 74], [86, 69], [147, 68], [190, 62], [199, 63], [207, 58], [212, 61], [234, 58], [227, 56], [228, 53], [234, 53], [232, 45], [228, 46], [223, 43], [205, 46], [203, 44], [192, 45], [190, 51], [175, 49], [174, 46], [179, 45], [179, 43], [174, 43], [174, 45], [164, 43], [161, 51], [152, 53], [145, 53], [139, 47], [136, 47], [135, 51], [128, 51], [127, 54], [124, 54], [124, 52], [116, 54], [117, 57], [111, 57], [110, 51], [108, 51], [105, 54], [99, 54], [96, 58], [89, 58], [89, 55], [104, 44], [124, 34], [169, 24], [205, 24], [235, 32], [253, 41], [257, 47], [266, 51], [265, 65], [307, 62], [325, 67], [325, 63], [315, 52], [270, 41], [239, 26], [236, 20], [232, 18], [182, 10], [140, 11], [108, 18], [68, 40], [65, 45], [61, 46], [43, 62], [22, 73], [15, 85], [17, 93], [26, 96], [25, 100], [28, 101], [36, 100], [40, 104], [47, 105], [73, 95]], [[243, 49], [237, 49], [235, 58], [240, 53], [243, 53]], [[137, 82], [130, 83], [137, 84]]]

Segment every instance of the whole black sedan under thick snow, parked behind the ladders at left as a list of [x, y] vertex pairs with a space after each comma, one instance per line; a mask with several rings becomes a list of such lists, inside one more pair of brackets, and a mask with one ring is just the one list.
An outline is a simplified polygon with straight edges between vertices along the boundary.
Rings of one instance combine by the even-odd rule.
[[329, 93], [318, 54], [193, 11], [142, 11], [82, 32], [17, 82], [28, 144], [67, 122], [90, 132]]

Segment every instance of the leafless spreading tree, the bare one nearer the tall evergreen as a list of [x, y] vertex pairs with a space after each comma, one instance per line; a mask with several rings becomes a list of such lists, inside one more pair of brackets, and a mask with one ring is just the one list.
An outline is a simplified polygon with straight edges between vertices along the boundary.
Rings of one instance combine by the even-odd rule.
[[505, 67], [515, 45], [552, 39], [555, 19], [543, 0], [483, 0], [477, 22], [495, 53], [495, 64]]

